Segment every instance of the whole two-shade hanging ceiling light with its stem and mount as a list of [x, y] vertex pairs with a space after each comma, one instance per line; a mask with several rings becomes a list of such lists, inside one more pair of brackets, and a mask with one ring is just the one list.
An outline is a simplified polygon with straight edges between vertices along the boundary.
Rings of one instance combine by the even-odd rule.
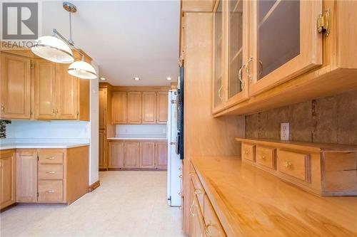
[[[54, 28], [54, 36], [42, 36], [35, 41], [31, 51], [37, 56], [50, 60], [54, 63], [72, 63], [69, 65], [68, 73], [77, 78], [96, 79], [96, 70], [93, 66], [84, 61], [84, 55], [78, 48], [74, 47], [72, 41], [72, 18], [71, 14], [77, 11], [76, 6], [69, 2], [64, 2], [63, 7], [69, 12], [69, 40]], [[81, 60], [74, 62], [71, 48], [81, 55]]]

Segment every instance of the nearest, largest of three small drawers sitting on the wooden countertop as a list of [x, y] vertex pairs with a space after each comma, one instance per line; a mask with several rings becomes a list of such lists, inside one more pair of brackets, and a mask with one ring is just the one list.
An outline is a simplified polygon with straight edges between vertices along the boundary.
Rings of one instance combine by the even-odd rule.
[[310, 182], [310, 155], [278, 149], [276, 152], [278, 172]]

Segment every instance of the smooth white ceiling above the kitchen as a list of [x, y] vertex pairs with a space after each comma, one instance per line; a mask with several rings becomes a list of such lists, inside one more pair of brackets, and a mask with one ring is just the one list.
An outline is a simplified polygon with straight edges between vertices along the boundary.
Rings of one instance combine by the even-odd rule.
[[[112, 85], [169, 85], [178, 77], [180, 3], [171, 1], [71, 1], [73, 40]], [[42, 2], [42, 34], [56, 28], [69, 37], [62, 1]], [[134, 77], [141, 80], [135, 81]]]

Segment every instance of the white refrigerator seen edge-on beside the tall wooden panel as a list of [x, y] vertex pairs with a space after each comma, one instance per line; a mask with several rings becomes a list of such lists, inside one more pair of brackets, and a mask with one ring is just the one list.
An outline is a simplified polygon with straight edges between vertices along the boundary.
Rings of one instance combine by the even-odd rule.
[[182, 162], [176, 154], [177, 146], [177, 92], [169, 91], [169, 111], [167, 120], [167, 200], [169, 206], [181, 206]]

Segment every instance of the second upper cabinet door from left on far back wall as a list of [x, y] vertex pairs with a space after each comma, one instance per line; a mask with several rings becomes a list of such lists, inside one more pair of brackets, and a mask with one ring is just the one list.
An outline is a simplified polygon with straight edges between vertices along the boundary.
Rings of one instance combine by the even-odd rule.
[[141, 92], [128, 93], [128, 124], [141, 124]]

